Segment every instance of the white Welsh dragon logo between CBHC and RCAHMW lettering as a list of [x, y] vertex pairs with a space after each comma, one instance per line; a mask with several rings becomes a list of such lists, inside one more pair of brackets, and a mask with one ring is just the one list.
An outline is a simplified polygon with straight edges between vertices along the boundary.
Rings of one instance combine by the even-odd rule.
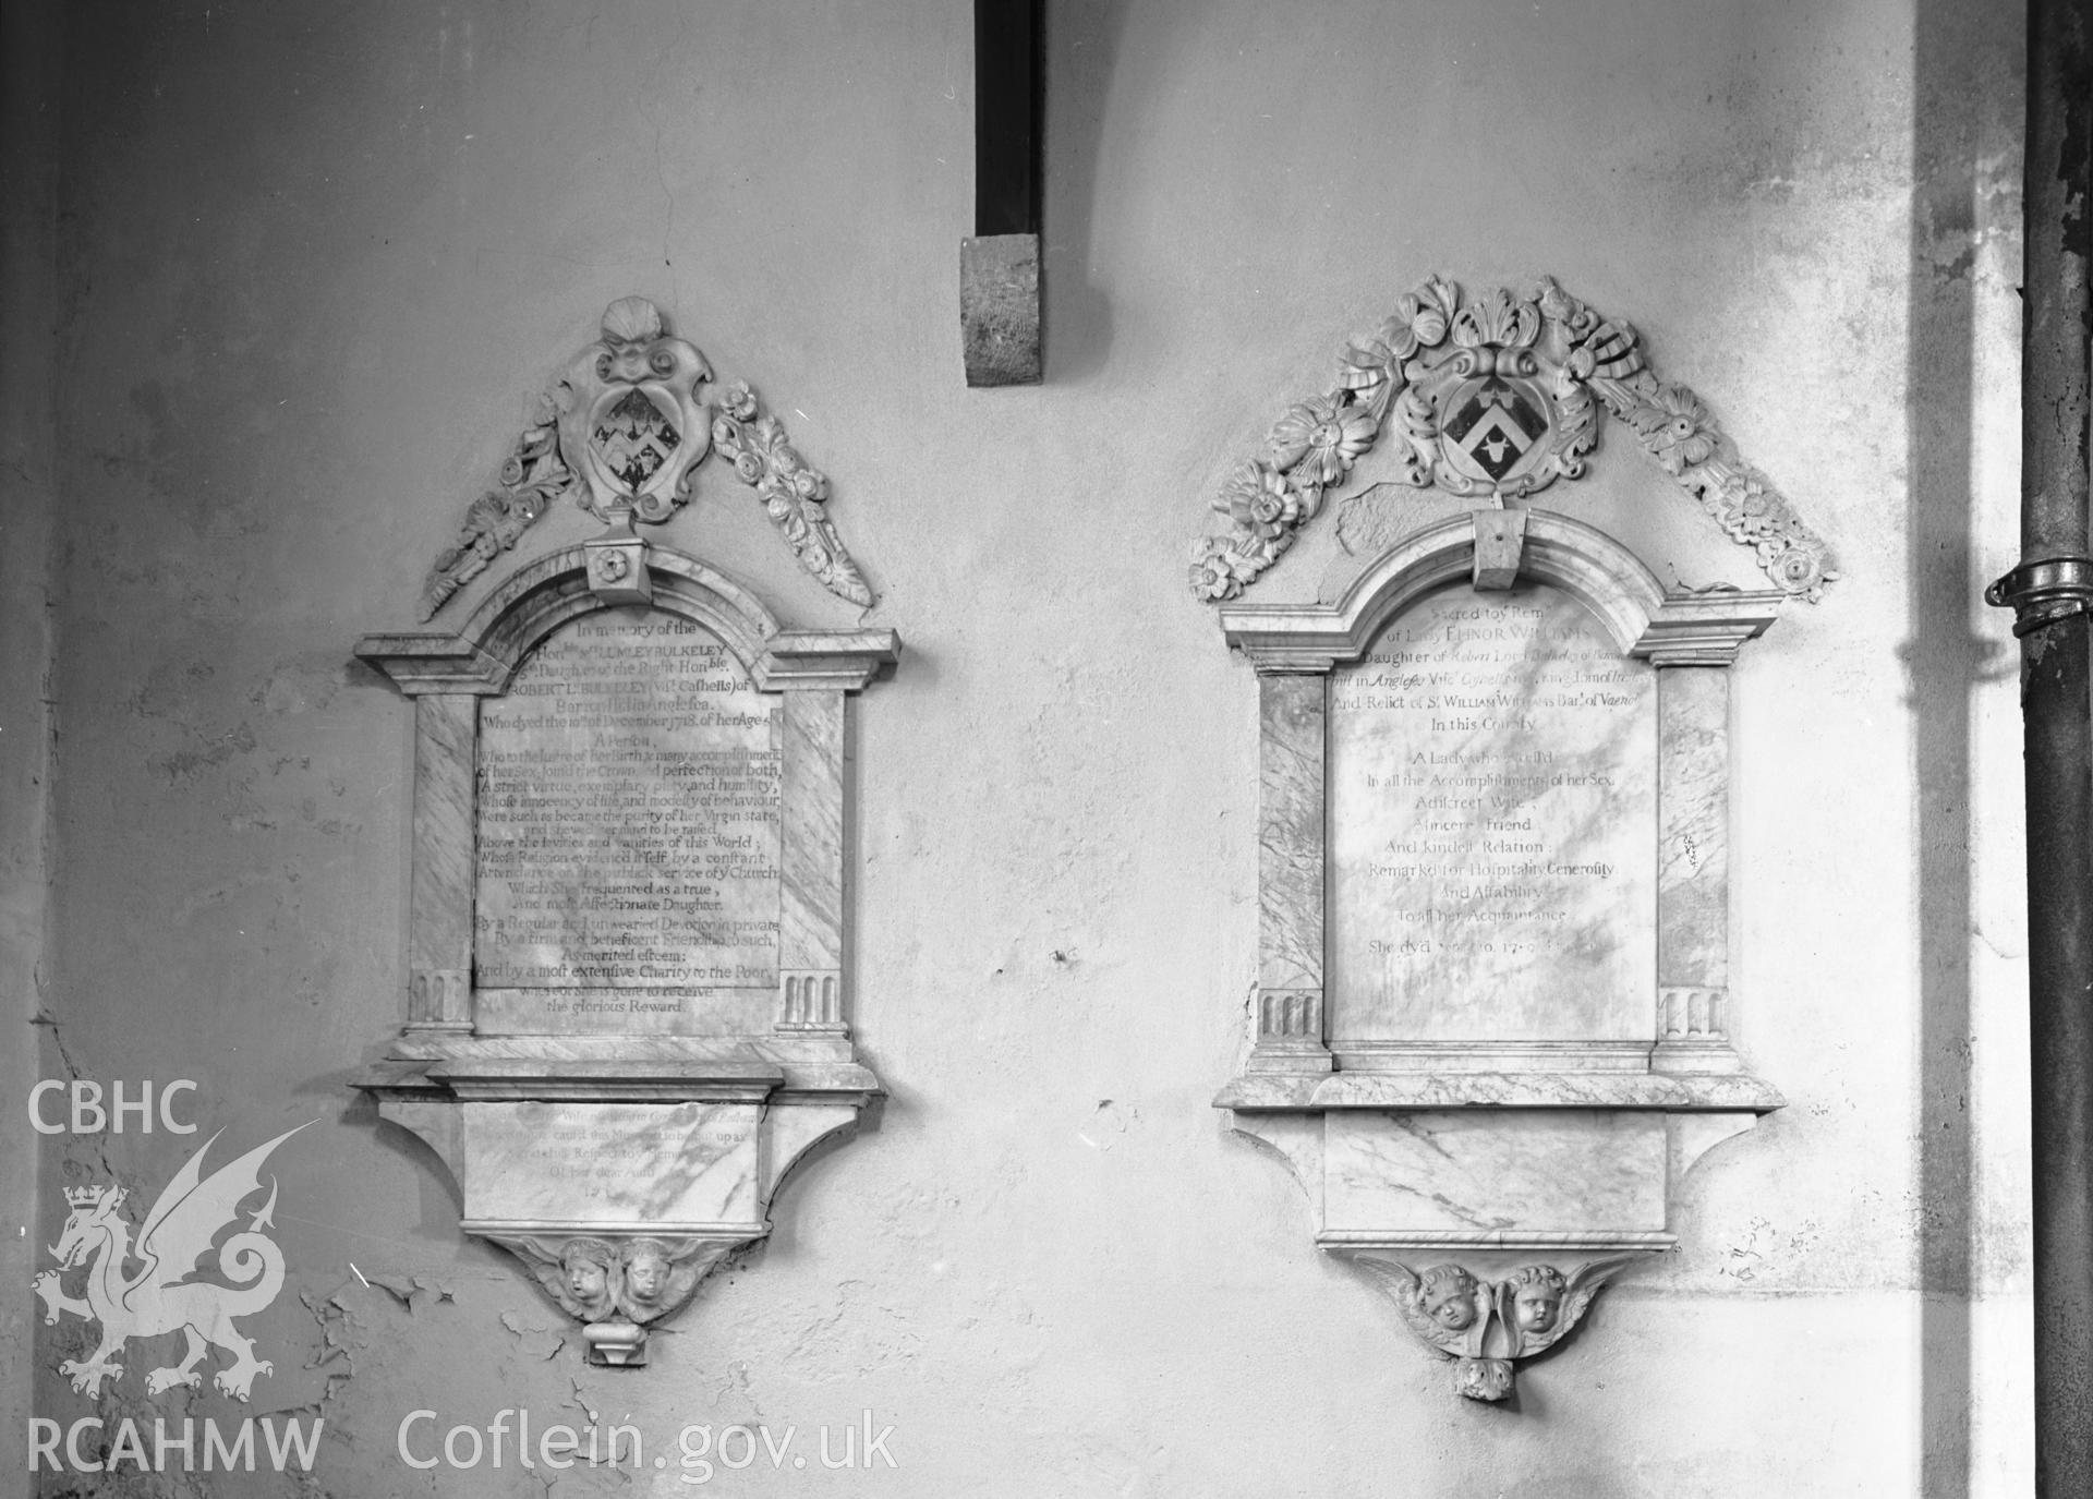
[[[276, 1365], [255, 1359], [253, 1340], [243, 1338], [232, 1325], [234, 1317], [262, 1311], [283, 1290], [283, 1250], [262, 1233], [276, 1227], [274, 1177], [262, 1210], [249, 1218], [247, 1229], [228, 1237], [218, 1250], [218, 1273], [232, 1285], [188, 1277], [197, 1271], [197, 1260], [209, 1254], [218, 1231], [239, 1218], [241, 1202], [262, 1189], [262, 1162], [299, 1128], [306, 1124], [203, 1177], [203, 1156], [218, 1139], [211, 1135], [144, 1214], [136, 1250], [130, 1241], [130, 1223], [117, 1216], [128, 1195], [123, 1187], [67, 1189], [65, 1200], [73, 1206], [73, 1214], [65, 1221], [65, 1233], [50, 1246], [59, 1269], [42, 1271], [33, 1288], [44, 1298], [46, 1323], [59, 1321], [59, 1313], [71, 1313], [103, 1325], [103, 1342], [92, 1357], [59, 1365], [59, 1373], [71, 1378], [75, 1390], [88, 1396], [100, 1394], [103, 1380], [123, 1373], [123, 1365], [111, 1359], [126, 1342], [176, 1329], [188, 1338], [188, 1352], [182, 1363], [147, 1373], [147, 1394], [178, 1384], [190, 1388], [203, 1384], [197, 1365], [211, 1344], [232, 1355], [232, 1367], [211, 1375], [211, 1384], [234, 1401], [247, 1399], [257, 1373], [274, 1371]], [[142, 1269], [126, 1275], [128, 1260], [140, 1260]], [[86, 1296], [67, 1296], [61, 1277], [82, 1262], [90, 1262]]]

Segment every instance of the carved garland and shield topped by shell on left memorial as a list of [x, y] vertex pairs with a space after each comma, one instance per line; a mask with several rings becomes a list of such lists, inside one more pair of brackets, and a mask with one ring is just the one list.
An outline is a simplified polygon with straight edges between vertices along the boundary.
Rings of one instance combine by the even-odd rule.
[[666, 331], [661, 310], [622, 297], [603, 312], [603, 337], [582, 350], [517, 438], [494, 488], [465, 511], [458, 538], [423, 584], [429, 620], [561, 498], [603, 521], [661, 523], [691, 500], [714, 450], [756, 490], [800, 565], [839, 599], [871, 607], [873, 590], [829, 521], [829, 479], [797, 454], [785, 427], [747, 383], [701, 402], [712, 366]]

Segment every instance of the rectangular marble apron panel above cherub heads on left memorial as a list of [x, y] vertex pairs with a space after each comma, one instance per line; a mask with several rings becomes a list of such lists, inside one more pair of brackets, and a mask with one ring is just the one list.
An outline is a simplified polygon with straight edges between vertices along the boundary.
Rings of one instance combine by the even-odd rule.
[[465, 1216], [756, 1221], [756, 1103], [469, 1103]]

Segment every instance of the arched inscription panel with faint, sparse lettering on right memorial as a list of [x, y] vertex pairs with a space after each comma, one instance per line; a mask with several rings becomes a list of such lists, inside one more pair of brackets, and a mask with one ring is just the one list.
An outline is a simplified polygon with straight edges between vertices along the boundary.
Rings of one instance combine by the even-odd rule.
[[1656, 674], [1553, 588], [1331, 674], [1331, 1041], [1647, 1041]]

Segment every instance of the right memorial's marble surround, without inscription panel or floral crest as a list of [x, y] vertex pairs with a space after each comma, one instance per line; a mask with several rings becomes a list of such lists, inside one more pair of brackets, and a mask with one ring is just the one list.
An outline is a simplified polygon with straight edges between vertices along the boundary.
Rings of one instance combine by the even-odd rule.
[[[1503, 517], [1503, 519], [1499, 519]], [[1360, 1034], [1331, 1028], [1331, 697], [1340, 668], [1442, 588], [1536, 582], [1574, 597], [1628, 659], [1656, 668], [1647, 1032], [1591, 1038]], [[1214, 1099], [1279, 1154], [1316, 1244], [1371, 1271], [1404, 1321], [1457, 1361], [1461, 1394], [1511, 1394], [1513, 1369], [1578, 1325], [1599, 1288], [1674, 1248], [1670, 1202], [1714, 1145], [1781, 1108], [1731, 1041], [1729, 666], [1779, 590], [1666, 590], [1626, 546], [1543, 509], [1427, 525], [1333, 605], [1224, 605], [1260, 712], [1258, 992], [1250, 1051]], [[1645, 791], [1647, 796], [1647, 791]]]

